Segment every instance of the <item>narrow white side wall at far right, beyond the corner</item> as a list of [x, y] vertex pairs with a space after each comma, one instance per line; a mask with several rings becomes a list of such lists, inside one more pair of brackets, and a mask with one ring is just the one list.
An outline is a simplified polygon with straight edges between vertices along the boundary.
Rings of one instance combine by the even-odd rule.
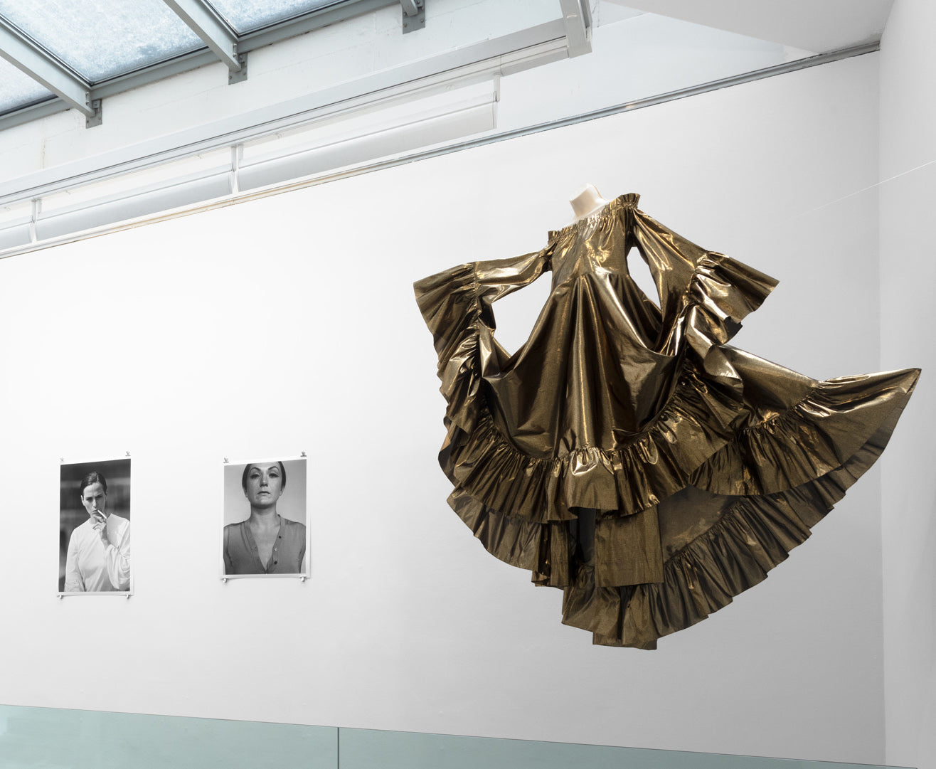
[[881, 41], [881, 339], [923, 377], [884, 467], [887, 761], [936, 767], [936, 6], [897, 0]]

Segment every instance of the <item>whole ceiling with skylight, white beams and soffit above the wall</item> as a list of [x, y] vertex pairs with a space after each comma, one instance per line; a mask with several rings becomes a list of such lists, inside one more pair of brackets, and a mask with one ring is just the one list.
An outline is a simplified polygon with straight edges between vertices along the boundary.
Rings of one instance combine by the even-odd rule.
[[[11, 178], [0, 179], [0, 256], [483, 137], [495, 114], [507, 135], [509, 128], [555, 126], [559, 118], [722, 87], [745, 74], [868, 52], [892, 3], [427, 0], [435, 10], [426, 22], [423, 0], [0, 0], [0, 135], [21, 142], [7, 146], [23, 158], [13, 164], [19, 173], [6, 168]], [[372, 18], [372, 11], [379, 13]], [[349, 25], [336, 23], [343, 21]], [[285, 46], [283, 58], [251, 58], [247, 78], [250, 52], [269, 46], [273, 53], [271, 44], [326, 26], [332, 28], [321, 38]], [[423, 26], [423, 34], [406, 34]], [[360, 39], [369, 46], [363, 56]], [[590, 51], [590, 39], [593, 55], [579, 56]], [[316, 52], [322, 40], [337, 45]], [[607, 71], [607, 57], [620, 66], [640, 51], [651, 52], [653, 67], [640, 67], [614, 89], [595, 77]], [[381, 62], [384, 68], [367, 69]], [[544, 81], [524, 81], [524, 73], [553, 62], [562, 66], [549, 74], [544, 98]], [[246, 80], [230, 99], [211, 99], [227, 90], [215, 77], [223, 67], [215, 66], [215, 80], [198, 86], [197, 104], [183, 100], [155, 121], [139, 120], [141, 102], [128, 96], [124, 111], [120, 100], [110, 102], [102, 122], [104, 99], [219, 63], [227, 82]], [[347, 67], [355, 73], [350, 79]], [[321, 80], [310, 89], [313, 69]], [[519, 80], [502, 99], [505, 74]], [[177, 84], [155, 89], [157, 106], [174, 98]], [[466, 90], [475, 86], [477, 93]], [[430, 111], [429, 102], [443, 96]], [[104, 127], [85, 131], [75, 113], [51, 137], [3, 130], [69, 108], [85, 115], [85, 126]], [[332, 133], [325, 136], [323, 126]]]

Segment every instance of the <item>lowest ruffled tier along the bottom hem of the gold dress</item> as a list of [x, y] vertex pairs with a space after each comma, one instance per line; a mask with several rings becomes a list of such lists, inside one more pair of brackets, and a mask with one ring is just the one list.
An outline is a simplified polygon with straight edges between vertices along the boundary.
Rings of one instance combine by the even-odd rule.
[[[658, 638], [695, 625], [762, 582], [770, 569], [809, 538], [812, 526], [884, 451], [917, 376], [916, 370], [910, 370], [874, 377], [892, 383], [886, 413], [845, 462], [782, 493], [736, 497], [715, 523], [669, 555], [656, 582], [607, 586], [601, 579], [600, 552], [595, 563], [575, 565], [576, 543], [566, 525], [501, 514], [462, 489], [452, 493], [449, 504], [491, 555], [531, 571], [536, 584], [563, 588], [564, 624], [592, 631], [596, 644], [653, 649]], [[833, 384], [836, 389], [854, 382], [841, 379]], [[805, 407], [797, 405], [800, 412]], [[716, 496], [686, 488], [659, 506], [660, 517], [667, 508], [674, 509], [668, 506], [693, 506], [693, 495]]]

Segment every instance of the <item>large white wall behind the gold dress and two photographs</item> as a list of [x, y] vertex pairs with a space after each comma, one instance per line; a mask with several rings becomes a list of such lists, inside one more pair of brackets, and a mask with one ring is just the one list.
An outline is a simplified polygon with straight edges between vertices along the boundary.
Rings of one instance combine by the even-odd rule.
[[[593, 647], [448, 510], [412, 294], [542, 247], [592, 182], [780, 278], [739, 347], [875, 370], [877, 75], [866, 55], [0, 262], [3, 702], [883, 762], [878, 470], [722, 612]], [[505, 300], [508, 347], [536, 290]], [[136, 595], [55, 599], [59, 460], [124, 451]], [[300, 451], [311, 581], [223, 584], [222, 458]]]

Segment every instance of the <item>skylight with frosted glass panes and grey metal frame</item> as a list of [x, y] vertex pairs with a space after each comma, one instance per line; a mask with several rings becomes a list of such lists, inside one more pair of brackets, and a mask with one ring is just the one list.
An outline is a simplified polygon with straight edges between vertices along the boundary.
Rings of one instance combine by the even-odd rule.
[[0, 118], [71, 107], [97, 125], [105, 96], [219, 60], [240, 81], [247, 52], [397, 1], [0, 0]]

